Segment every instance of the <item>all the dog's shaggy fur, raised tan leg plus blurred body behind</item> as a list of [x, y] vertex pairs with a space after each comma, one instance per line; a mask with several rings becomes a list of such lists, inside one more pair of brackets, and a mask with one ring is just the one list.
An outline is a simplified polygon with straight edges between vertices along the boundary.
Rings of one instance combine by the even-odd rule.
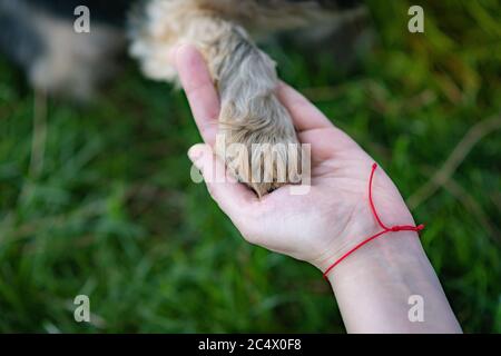
[[[117, 19], [129, 1], [114, 1], [109, 7], [99, 0], [73, 2], [0, 0], [1, 27], [23, 38], [20, 43], [24, 43], [13, 49], [10, 34], [0, 34], [0, 48], [24, 66], [36, 88], [88, 98], [112, 72], [112, 58], [125, 42]], [[186, 42], [199, 49], [222, 102], [218, 122], [224, 144], [216, 145], [216, 154], [234, 176], [263, 196], [295, 181], [287, 172], [291, 166], [301, 166], [301, 147], [289, 113], [275, 96], [275, 62], [256, 47], [249, 33], [258, 37], [312, 23], [338, 23], [361, 13], [356, 2], [146, 0], [130, 12], [129, 52], [147, 77], [176, 81], [176, 71], [168, 65], [170, 49]], [[98, 16], [107, 13], [107, 21], [98, 19], [91, 36], [75, 33], [68, 16], [77, 4], [89, 6], [91, 14], [94, 10], [99, 10]], [[39, 49], [26, 46], [27, 41]]]

